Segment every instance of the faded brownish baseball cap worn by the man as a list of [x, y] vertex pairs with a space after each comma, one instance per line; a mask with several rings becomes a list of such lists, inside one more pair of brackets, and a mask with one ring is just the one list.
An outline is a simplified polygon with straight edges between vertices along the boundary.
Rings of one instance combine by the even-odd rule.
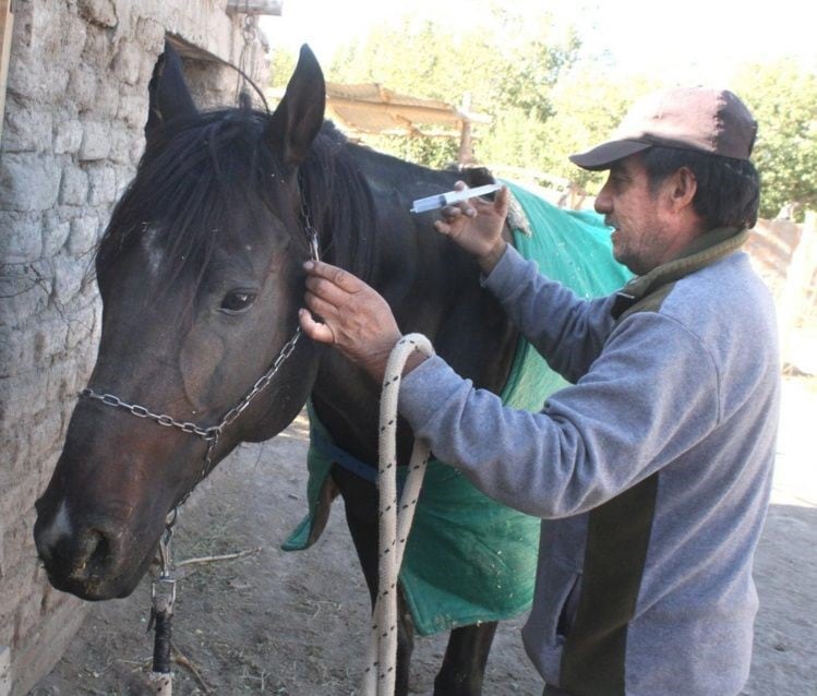
[[757, 122], [732, 92], [675, 87], [640, 98], [609, 141], [570, 161], [598, 171], [653, 145], [748, 159], [756, 134]]

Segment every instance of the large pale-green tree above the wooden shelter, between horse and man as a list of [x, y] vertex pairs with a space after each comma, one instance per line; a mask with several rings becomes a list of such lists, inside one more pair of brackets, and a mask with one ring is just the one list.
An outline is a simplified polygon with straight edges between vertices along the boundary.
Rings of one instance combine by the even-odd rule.
[[[474, 154], [482, 163], [542, 160], [541, 125], [553, 116], [550, 93], [576, 59], [576, 32], [542, 13], [537, 22], [496, 4], [483, 23], [459, 33], [406, 16], [338, 51], [328, 74], [336, 82], [377, 82], [396, 92], [458, 104], [492, 119], [474, 124]], [[422, 130], [422, 128], [420, 129]], [[455, 139], [379, 139], [374, 146], [430, 166], [456, 159]]]

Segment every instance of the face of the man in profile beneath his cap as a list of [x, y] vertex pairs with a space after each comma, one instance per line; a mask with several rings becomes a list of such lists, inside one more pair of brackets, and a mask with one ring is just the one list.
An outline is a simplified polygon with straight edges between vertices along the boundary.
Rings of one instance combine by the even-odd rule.
[[644, 275], [672, 259], [678, 239], [671, 225], [666, 188], [662, 182], [650, 190], [640, 155], [613, 164], [596, 199], [597, 213], [613, 227], [613, 256], [636, 275]]

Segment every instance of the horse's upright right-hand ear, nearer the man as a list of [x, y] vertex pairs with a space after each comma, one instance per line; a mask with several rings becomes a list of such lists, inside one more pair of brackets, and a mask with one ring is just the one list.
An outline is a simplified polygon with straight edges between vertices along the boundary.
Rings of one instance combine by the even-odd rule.
[[266, 130], [284, 164], [297, 167], [307, 158], [323, 125], [325, 108], [326, 83], [323, 72], [315, 55], [304, 44], [284, 98]]

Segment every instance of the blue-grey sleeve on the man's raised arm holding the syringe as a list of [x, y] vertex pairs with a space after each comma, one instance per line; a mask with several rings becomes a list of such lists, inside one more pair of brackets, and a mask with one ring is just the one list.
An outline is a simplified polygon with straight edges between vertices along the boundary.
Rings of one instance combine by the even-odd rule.
[[509, 245], [483, 286], [551, 369], [568, 382], [590, 369], [613, 328], [613, 298], [582, 300], [541, 275], [536, 263]]

